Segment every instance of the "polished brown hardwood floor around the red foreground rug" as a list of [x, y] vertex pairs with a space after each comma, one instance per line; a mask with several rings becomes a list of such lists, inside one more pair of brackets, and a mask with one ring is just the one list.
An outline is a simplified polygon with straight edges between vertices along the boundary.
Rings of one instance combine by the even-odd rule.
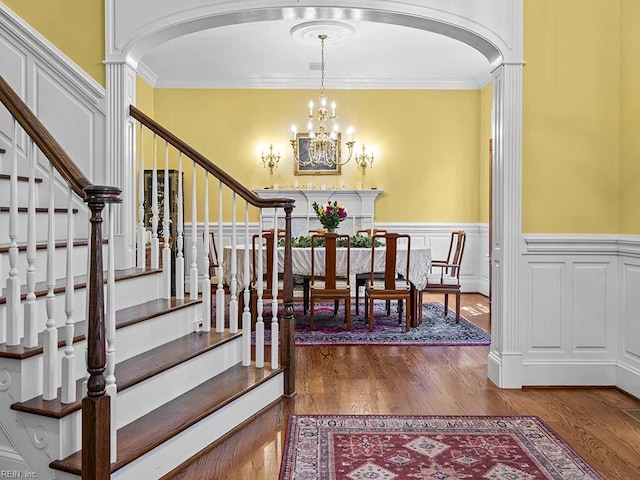
[[[438, 300], [428, 296], [425, 301]], [[488, 329], [487, 299], [461, 314]], [[303, 347], [298, 395], [166, 479], [275, 480], [290, 414], [537, 415], [603, 478], [640, 478], [640, 401], [614, 388], [501, 390], [487, 380], [489, 347]]]

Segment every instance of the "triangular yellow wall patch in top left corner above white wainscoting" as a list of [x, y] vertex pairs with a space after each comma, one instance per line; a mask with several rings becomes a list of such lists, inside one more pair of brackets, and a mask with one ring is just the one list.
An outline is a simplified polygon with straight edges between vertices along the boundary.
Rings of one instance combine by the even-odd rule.
[[103, 0], [3, 0], [3, 3], [105, 85]]

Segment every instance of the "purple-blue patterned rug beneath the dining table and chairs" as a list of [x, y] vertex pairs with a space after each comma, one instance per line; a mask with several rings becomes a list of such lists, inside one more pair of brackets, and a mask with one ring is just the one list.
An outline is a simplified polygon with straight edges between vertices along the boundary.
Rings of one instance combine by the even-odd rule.
[[[364, 308], [355, 315], [352, 308], [351, 331], [347, 331], [344, 321], [344, 304], [338, 314], [333, 314], [333, 304], [316, 304], [315, 330], [309, 328], [309, 315], [304, 315], [302, 306], [296, 304], [296, 345], [490, 345], [491, 336], [465, 318], [455, 321], [455, 312], [449, 310], [445, 317], [444, 306], [438, 302], [428, 302], [422, 307], [422, 323], [404, 330], [404, 321], [398, 323], [398, 313], [392, 302], [391, 315], [387, 315], [384, 301], [374, 302], [374, 331], [364, 319]], [[265, 308], [269, 311], [269, 308]], [[404, 317], [403, 317], [404, 320]], [[271, 315], [265, 313], [265, 322]], [[265, 326], [265, 342], [271, 343], [268, 326]]]

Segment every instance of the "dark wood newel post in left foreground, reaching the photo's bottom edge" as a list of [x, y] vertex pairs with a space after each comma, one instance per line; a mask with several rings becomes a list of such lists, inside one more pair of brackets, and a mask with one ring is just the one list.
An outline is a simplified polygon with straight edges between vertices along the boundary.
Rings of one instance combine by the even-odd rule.
[[85, 188], [85, 202], [91, 210], [91, 260], [87, 279], [89, 318], [87, 319], [87, 396], [82, 399], [82, 478], [107, 480], [111, 477], [110, 398], [105, 393], [104, 278], [102, 261], [102, 210], [107, 203], [118, 203], [121, 190], [91, 185]]

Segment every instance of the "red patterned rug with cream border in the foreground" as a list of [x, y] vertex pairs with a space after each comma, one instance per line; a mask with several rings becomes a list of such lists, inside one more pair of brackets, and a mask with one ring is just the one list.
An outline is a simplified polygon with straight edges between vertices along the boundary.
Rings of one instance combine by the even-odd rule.
[[534, 416], [291, 416], [280, 480], [602, 479]]

